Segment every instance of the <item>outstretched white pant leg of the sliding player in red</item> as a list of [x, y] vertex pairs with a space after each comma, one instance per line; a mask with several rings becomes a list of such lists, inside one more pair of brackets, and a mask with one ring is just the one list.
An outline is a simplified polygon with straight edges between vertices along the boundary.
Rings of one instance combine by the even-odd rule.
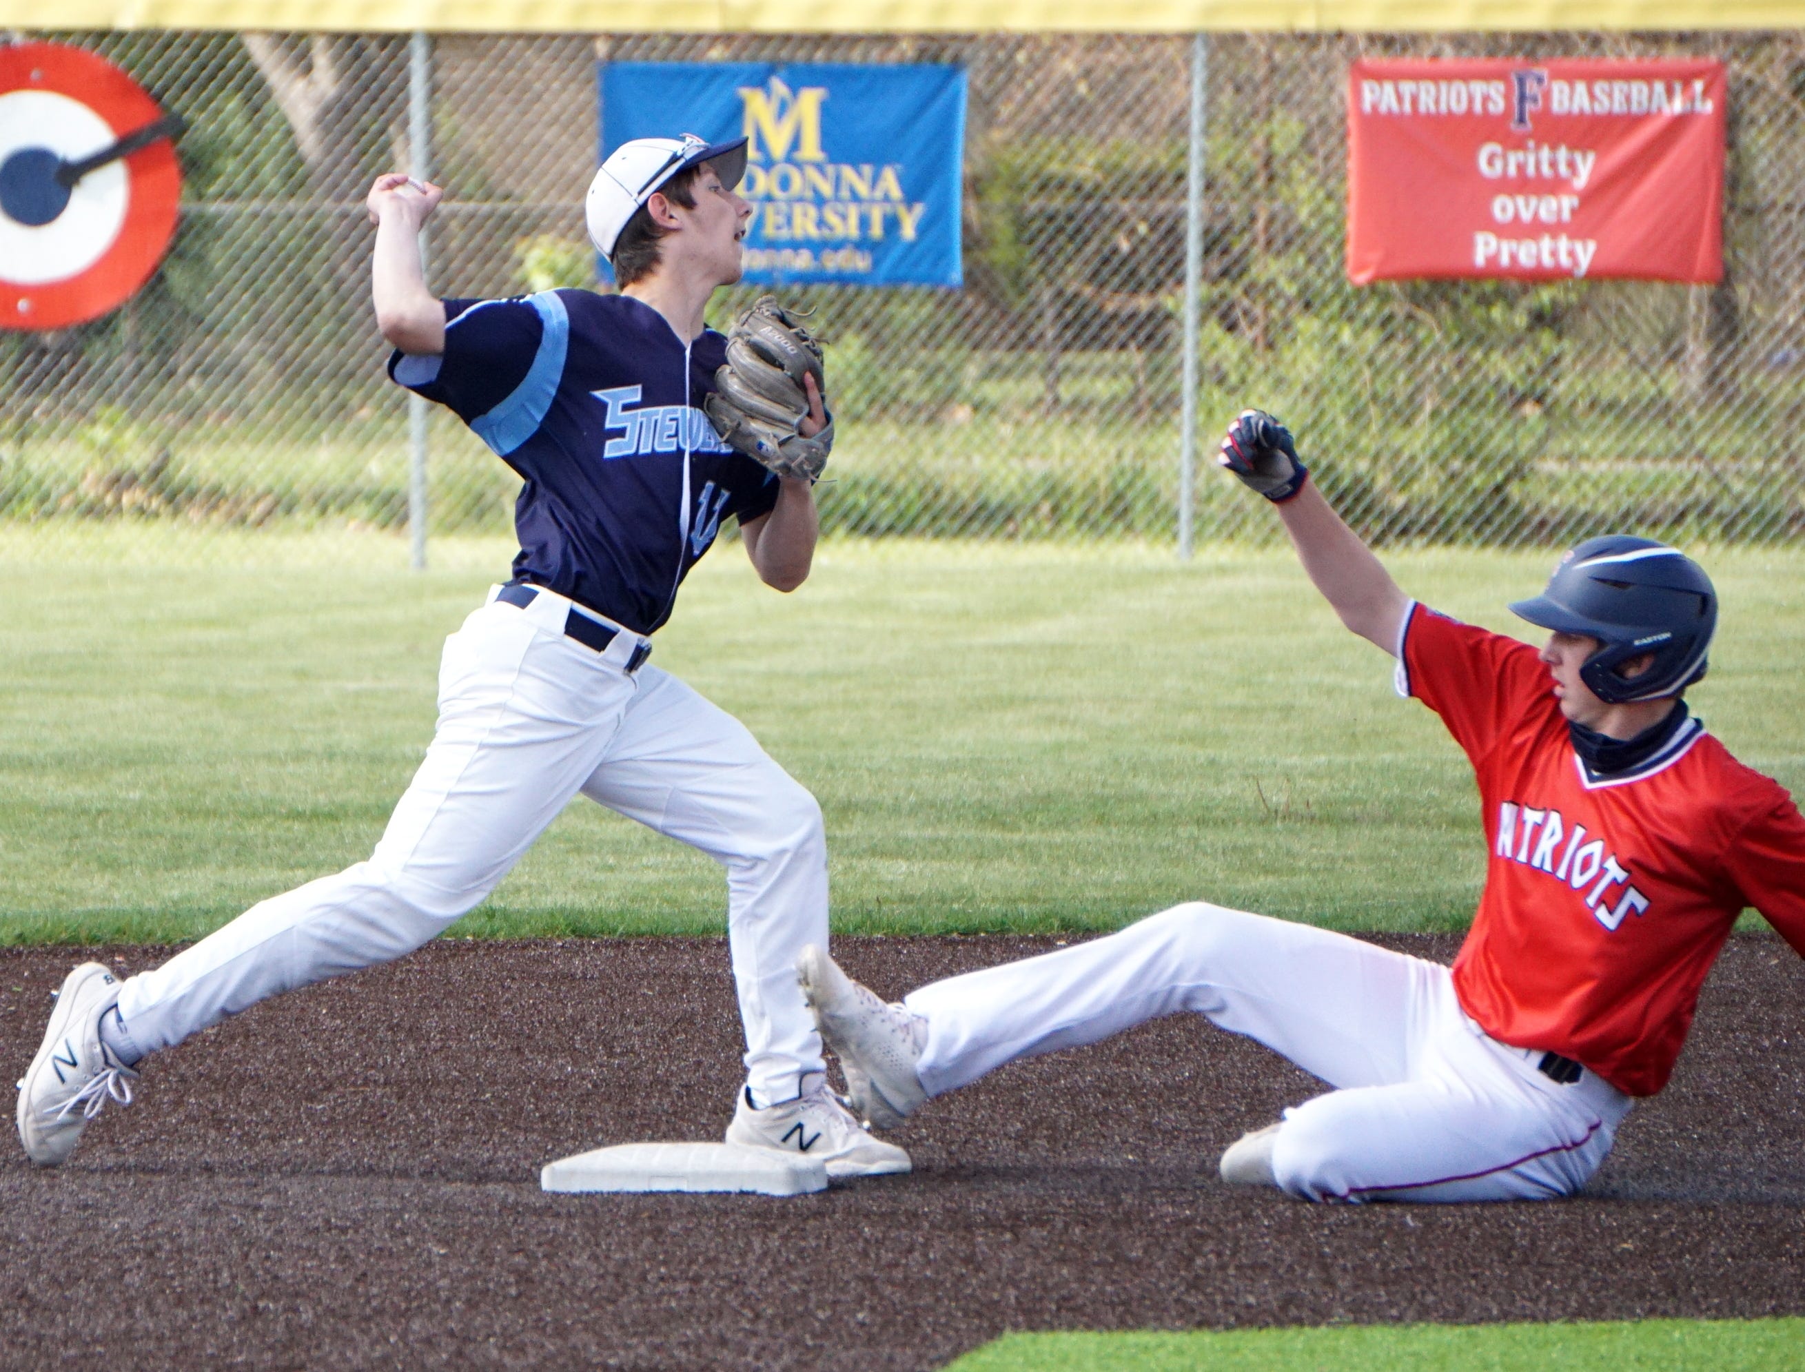
[[1412, 1074], [1421, 987], [1439, 971], [1309, 924], [1191, 903], [1106, 939], [933, 982], [902, 1004], [928, 1020], [917, 1071], [930, 1096], [1177, 1011], [1356, 1087]]

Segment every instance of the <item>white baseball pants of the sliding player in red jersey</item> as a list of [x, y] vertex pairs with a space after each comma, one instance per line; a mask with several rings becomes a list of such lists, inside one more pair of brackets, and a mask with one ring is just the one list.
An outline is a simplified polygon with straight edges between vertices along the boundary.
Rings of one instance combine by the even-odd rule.
[[1177, 1011], [1282, 1052], [1334, 1090], [1285, 1110], [1278, 1184], [1307, 1200], [1536, 1200], [1572, 1195], [1610, 1152], [1630, 1098], [1541, 1052], [1487, 1038], [1448, 968], [1215, 904], [933, 982], [902, 1002], [928, 1022], [930, 1096], [1016, 1058], [1096, 1043]]

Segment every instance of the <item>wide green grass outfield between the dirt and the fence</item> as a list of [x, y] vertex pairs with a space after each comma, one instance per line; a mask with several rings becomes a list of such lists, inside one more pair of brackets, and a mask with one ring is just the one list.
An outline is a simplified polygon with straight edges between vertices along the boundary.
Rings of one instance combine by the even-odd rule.
[[[116, 536], [54, 570], [0, 540], [0, 941], [191, 939], [366, 856], [439, 646], [509, 552], [435, 543], [413, 574], [397, 540], [339, 536], [338, 570], [296, 570], [240, 536], [146, 567]], [[1704, 556], [1727, 610], [1695, 706], [1798, 787], [1805, 554]], [[1509, 628], [1550, 556], [1390, 561]], [[845, 932], [1110, 928], [1191, 897], [1451, 930], [1476, 895], [1464, 758], [1278, 551], [830, 543], [785, 598], [724, 545], [655, 661], [819, 796]], [[718, 932], [724, 906], [713, 863], [579, 802], [458, 932]]]

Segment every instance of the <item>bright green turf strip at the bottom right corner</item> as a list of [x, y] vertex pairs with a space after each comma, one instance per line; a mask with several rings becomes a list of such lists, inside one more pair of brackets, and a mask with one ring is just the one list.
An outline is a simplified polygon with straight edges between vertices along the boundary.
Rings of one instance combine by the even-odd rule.
[[1009, 1334], [948, 1372], [1783, 1372], [1805, 1320]]

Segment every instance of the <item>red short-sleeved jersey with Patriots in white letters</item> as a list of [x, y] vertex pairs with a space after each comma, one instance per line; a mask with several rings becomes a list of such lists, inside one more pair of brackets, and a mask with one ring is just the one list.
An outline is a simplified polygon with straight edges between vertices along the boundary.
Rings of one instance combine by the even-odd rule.
[[1666, 1085], [1745, 906], [1805, 951], [1805, 818], [1688, 718], [1628, 773], [1574, 751], [1536, 650], [1412, 605], [1399, 691], [1473, 762], [1491, 858], [1455, 993], [1493, 1038]]

